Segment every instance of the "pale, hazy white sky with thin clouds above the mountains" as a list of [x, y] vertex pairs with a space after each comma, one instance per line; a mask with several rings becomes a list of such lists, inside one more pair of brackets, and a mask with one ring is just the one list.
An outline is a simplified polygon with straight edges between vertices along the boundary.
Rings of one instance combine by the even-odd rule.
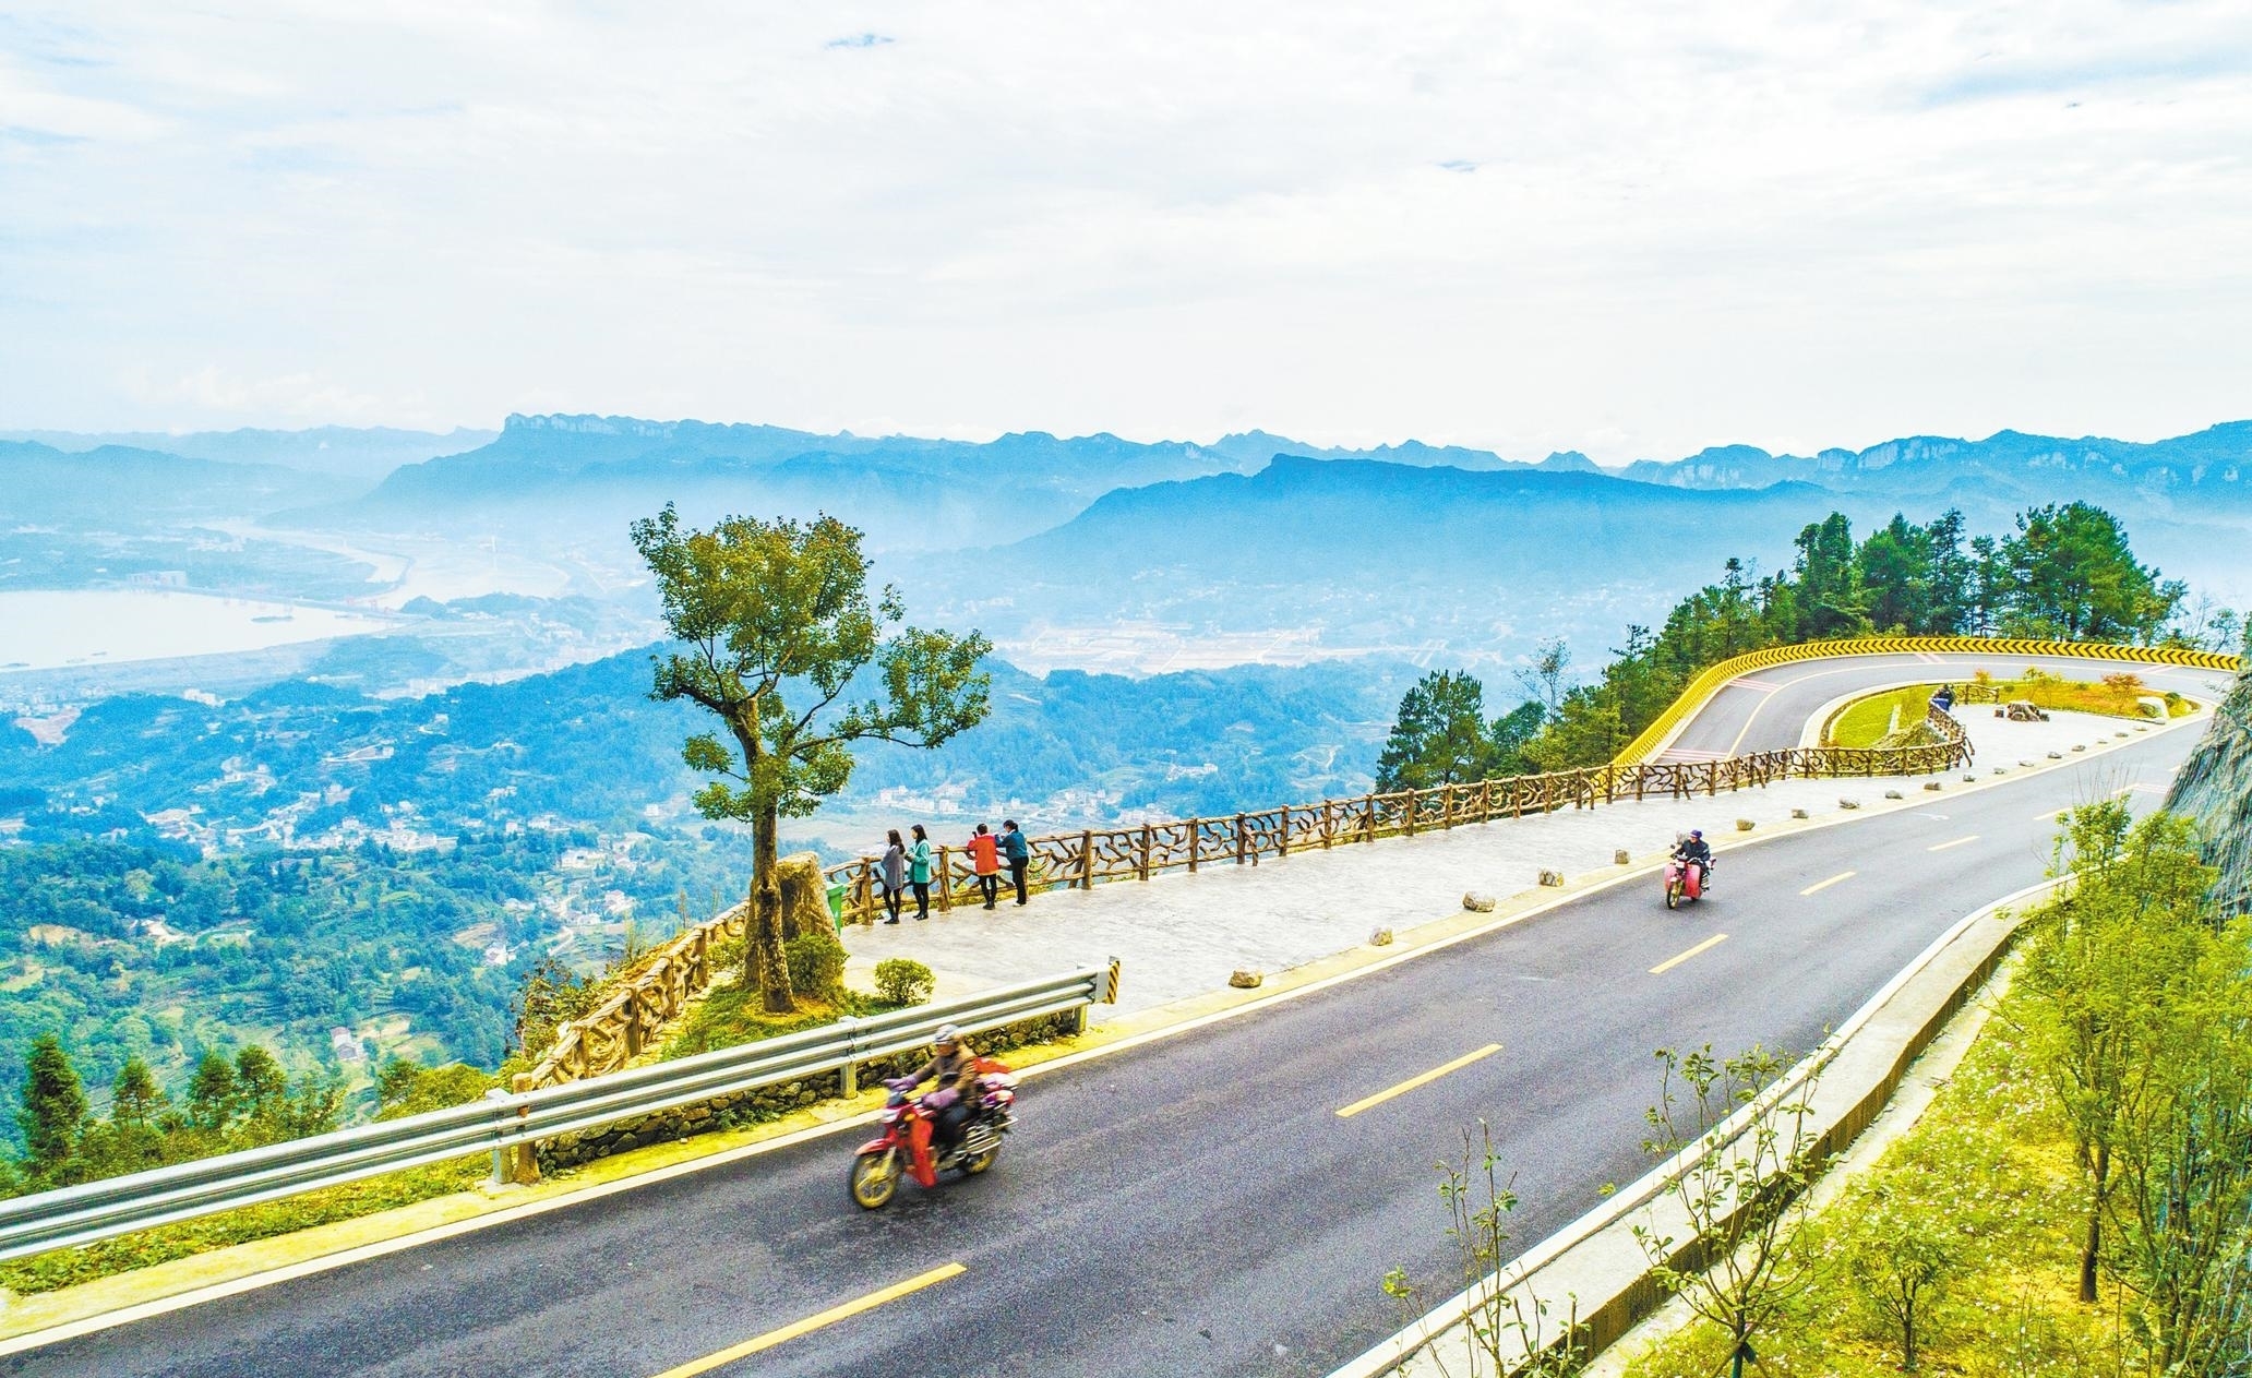
[[0, 14], [0, 428], [2252, 414], [2252, 5]]

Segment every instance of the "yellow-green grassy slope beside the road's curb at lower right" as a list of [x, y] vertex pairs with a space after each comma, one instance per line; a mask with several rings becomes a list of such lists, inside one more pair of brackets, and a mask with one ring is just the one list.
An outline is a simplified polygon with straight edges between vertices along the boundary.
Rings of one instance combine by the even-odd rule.
[[[2115, 1283], [2081, 1306], [2081, 1178], [2056, 1101], [2022, 1049], [2011, 1002], [1980, 1031], [1957, 1074], [1901, 1137], [1806, 1229], [1820, 1281], [1766, 1337], [1768, 1378], [1878, 1378], [1901, 1371], [1898, 1333], [1874, 1286], [1849, 1265], [1869, 1256], [1883, 1209], [1914, 1211], [1957, 1256], [1957, 1272], [1919, 1322], [1919, 1369], [1964, 1378], [2128, 1371]], [[1889, 1207], [1887, 1207], [1889, 1202]], [[1694, 1322], [1635, 1358], [1628, 1378], [1709, 1378], [1727, 1367], [1721, 1331]]]

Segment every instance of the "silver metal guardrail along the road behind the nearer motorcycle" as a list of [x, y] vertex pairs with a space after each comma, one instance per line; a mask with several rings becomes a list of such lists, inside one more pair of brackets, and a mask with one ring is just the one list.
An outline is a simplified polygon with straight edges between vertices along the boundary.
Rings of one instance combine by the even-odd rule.
[[863, 1063], [914, 1052], [939, 1024], [982, 1034], [1070, 1011], [1081, 1011], [1083, 1020], [1088, 1006], [1117, 1002], [1117, 977], [1112, 961], [671, 1063], [529, 1092], [495, 1090], [468, 1106], [0, 1200], [0, 1259], [90, 1245], [484, 1151], [495, 1155], [498, 1169], [509, 1148], [826, 1072], [840, 1072], [844, 1094], [854, 1094]]

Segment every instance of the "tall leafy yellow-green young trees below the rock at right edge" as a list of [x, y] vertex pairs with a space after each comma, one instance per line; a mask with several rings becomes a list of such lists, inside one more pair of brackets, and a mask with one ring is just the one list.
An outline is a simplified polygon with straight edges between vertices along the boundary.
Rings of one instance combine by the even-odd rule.
[[2252, 1353], [2252, 928], [2220, 928], [2191, 824], [2074, 808], [2079, 885], [2027, 948], [2022, 1027], [2079, 1166], [2079, 1297], [2137, 1297], [2169, 1373]]

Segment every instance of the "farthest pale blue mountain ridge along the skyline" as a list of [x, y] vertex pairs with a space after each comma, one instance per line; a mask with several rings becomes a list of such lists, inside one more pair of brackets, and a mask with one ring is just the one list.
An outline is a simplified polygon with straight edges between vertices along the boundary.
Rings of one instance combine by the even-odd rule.
[[[1637, 459], [1603, 468], [1565, 450], [1540, 462], [1491, 450], [1405, 441], [1376, 448], [1311, 446], [1250, 430], [1212, 444], [1128, 441], [1115, 435], [1058, 439], [1045, 432], [993, 441], [817, 435], [781, 426], [644, 421], [635, 417], [509, 417], [498, 430], [419, 432], [390, 428], [232, 430], [232, 432], [0, 432], [50, 455], [101, 457], [115, 448], [212, 464], [279, 466], [358, 477], [372, 491], [358, 516], [399, 518], [471, 509], [520, 509], [549, 500], [604, 502], [673, 493], [772, 491], [775, 498], [944, 502], [948, 491], [984, 498], [1020, 493], [1025, 504], [1065, 502], [1072, 511], [1112, 489], [1257, 473], [1277, 455], [1371, 459], [1394, 468], [1608, 475], [1637, 484], [1766, 489], [1804, 482], [1831, 491], [1928, 498], [1964, 482], [1989, 484], [2004, 502], [2054, 500], [2070, 486], [2085, 495], [2169, 509], [2191, 504], [2252, 511], [2252, 421], [2137, 444], [2103, 437], [2061, 439], [1998, 432], [1982, 441], [1903, 437], [1865, 450], [1772, 455], [1757, 446], [1714, 446], [1684, 459]], [[18, 450], [18, 464], [27, 453]], [[115, 459], [115, 457], [113, 457]], [[99, 459], [97, 459], [99, 462]], [[248, 480], [257, 491], [259, 482]], [[194, 471], [194, 482], [216, 482]], [[662, 498], [660, 498], [662, 500]], [[1070, 513], [1054, 513], [1061, 525]], [[932, 545], [962, 545], [935, 540]]]

